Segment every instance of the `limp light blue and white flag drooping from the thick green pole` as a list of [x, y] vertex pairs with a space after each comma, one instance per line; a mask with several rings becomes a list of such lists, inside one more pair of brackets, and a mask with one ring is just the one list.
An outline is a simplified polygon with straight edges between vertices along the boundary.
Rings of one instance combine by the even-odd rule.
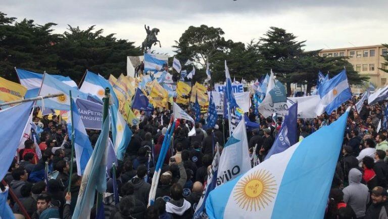
[[103, 122], [102, 132], [97, 140], [93, 153], [83, 172], [81, 188], [72, 218], [90, 218], [90, 209], [94, 204], [95, 191], [103, 193], [107, 189], [106, 181], [106, 148], [109, 141], [110, 118]]

